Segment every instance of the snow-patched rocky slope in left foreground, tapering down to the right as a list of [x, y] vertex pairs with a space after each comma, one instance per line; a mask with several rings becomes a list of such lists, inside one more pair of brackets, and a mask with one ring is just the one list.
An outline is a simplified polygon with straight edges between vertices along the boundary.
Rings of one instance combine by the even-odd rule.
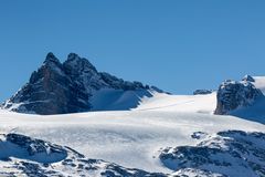
[[100, 159], [89, 159], [76, 150], [20, 134], [2, 135], [0, 176], [30, 177], [165, 177], [140, 169], [125, 168]]

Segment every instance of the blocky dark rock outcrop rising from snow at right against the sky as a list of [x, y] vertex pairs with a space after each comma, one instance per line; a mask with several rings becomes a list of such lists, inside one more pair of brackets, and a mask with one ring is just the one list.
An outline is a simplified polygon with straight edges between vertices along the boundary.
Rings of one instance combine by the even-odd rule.
[[227, 114], [240, 107], [251, 106], [263, 93], [248, 81], [223, 82], [218, 90], [218, 106], [214, 114]]

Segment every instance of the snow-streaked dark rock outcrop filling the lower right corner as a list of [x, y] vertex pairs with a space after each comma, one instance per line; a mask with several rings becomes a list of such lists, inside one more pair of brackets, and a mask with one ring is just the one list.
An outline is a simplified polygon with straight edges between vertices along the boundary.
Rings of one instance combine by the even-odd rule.
[[176, 176], [264, 177], [265, 134], [220, 132], [195, 146], [163, 148], [159, 158]]

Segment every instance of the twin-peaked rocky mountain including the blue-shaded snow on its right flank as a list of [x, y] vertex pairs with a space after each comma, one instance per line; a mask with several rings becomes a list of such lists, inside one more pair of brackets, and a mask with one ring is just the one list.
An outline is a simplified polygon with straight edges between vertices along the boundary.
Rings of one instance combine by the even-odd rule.
[[3, 108], [44, 115], [130, 110], [139, 104], [140, 97], [151, 96], [152, 92], [161, 91], [98, 72], [88, 60], [75, 53], [68, 54], [64, 63], [49, 53], [29, 83]]

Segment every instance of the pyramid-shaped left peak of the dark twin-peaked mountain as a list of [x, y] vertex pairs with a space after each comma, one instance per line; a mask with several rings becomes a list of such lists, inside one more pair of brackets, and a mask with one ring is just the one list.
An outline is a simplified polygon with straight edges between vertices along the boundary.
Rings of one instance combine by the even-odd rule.
[[15, 112], [36, 114], [63, 114], [89, 110], [88, 94], [82, 85], [73, 82], [64, 71], [63, 64], [49, 53], [43, 65], [34, 71], [30, 82], [6, 103], [6, 108]]

